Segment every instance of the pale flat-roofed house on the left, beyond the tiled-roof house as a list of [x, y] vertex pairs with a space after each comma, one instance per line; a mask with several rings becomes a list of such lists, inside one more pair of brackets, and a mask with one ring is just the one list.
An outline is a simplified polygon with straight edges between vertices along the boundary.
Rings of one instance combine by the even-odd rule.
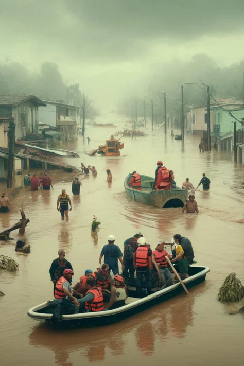
[[78, 137], [80, 115], [78, 106], [65, 104], [61, 101], [44, 101], [46, 107], [39, 109], [39, 123], [57, 127], [62, 133], [62, 141], [74, 141]]

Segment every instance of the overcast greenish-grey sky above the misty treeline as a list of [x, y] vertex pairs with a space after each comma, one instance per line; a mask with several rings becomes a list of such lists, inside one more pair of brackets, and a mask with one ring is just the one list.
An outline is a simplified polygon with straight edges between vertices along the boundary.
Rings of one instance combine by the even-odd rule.
[[244, 59], [243, 0], [0, 0], [0, 60], [59, 65], [97, 101], [142, 90], [156, 65]]

